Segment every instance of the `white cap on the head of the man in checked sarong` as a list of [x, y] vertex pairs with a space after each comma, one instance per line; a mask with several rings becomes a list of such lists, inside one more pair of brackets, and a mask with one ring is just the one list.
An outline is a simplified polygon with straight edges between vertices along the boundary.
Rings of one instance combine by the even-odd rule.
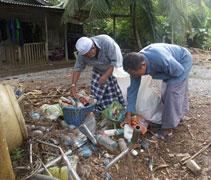
[[78, 51], [78, 54], [84, 55], [84, 54], [89, 52], [89, 50], [91, 49], [92, 45], [93, 45], [93, 42], [92, 42], [92, 40], [90, 38], [81, 37], [76, 42], [75, 47], [76, 47], [76, 49]]

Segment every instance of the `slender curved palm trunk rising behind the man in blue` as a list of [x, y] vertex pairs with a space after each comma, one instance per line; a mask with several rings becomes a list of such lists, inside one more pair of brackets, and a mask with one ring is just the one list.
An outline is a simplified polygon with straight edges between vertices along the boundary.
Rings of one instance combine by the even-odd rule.
[[139, 38], [138, 29], [136, 25], [136, 0], [130, 5], [130, 14], [131, 14], [133, 33], [136, 40], [136, 44], [138, 45], [138, 49], [141, 50], [142, 44]]

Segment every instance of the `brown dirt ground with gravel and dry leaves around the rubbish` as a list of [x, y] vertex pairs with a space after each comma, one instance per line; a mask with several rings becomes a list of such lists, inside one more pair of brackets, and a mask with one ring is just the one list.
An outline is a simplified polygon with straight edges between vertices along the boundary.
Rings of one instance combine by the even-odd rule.
[[[167, 141], [155, 143], [150, 141], [151, 133], [148, 132], [141, 136], [141, 140], [149, 142], [147, 150], [140, 151], [137, 148], [138, 155], [132, 155], [132, 165], [135, 179], [140, 180], [211, 180], [211, 146], [199, 153], [194, 161], [201, 167], [202, 172], [194, 175], [181, 160], [188, 155], [195, 153], [206, 147], [211, 142], [211, 52], [201, 50], [190, 50], [194, 64], [189, 78], [189, 107], [190, 111], [183, 118], [183, 121], [174, 132], [174, 136]], [[58, 157], [59, 152], [54, 148], [37, 143], [32, 137], [32, 128], [41, 126], [48, 128], [40, 140], [49, 142], [50, 138], [59, 141], [59, 145], [66, 151], [68, 147], [60, 142], [59, 134], [68, 134], [60, 124], [61, 119], [57, 121], [33, 120], [29, 112], [36, 111], [42, 104], [58, 103], [59, 96], [69, 93], [72, 77], [72, 68], [60, 68], [56, 70], [40, 71], [26, 73], [15, 76], [7, 76], [0, 79], [0, 83], [16, 85], [23, 84], [24, 93], [39, 90], [42, 92], [40, 97], [26, 96], [23, 100], [24, 118], [29, 132], [29, 140], [25, 141], [19, 149], [21, 156], [17, 153], [12, 154], [13, 168], [17, 180], [25, 179], [32, 173], [35, 173], [40, 167], [40, 160], [44, 164], [52, 157]], [[78, 84], [80, 89], [90, 88], [91, 68], [87, 68], [82, 74]], [[155, 81], [156, 88], [159, 82]], [[55, 97], [56, 96], [56, 97]], [[49, 98], [50, 97], [50, 98]], [[115, 136], [118, 140], [120, 136]], [[33, 143], [33, 165], [30, 170], [20, 170], [18, 167], [30, 167], [29, 163], [29, 144], [30, 139]], [[137, 146], [138, 147], [138, 146]], [[17, 152], [17, 151], [16, 151]], [[97, 150], [89, 158], [83, 158], [77, 151], [73, 151], [79, 160], [77, 163], [77, 172], [82, 180], [101, 180], [103, 176], [105, 159], [112, 159], [120, 151], [107, 152], [103, 147], [97, 147]], [[109, 154], [109, 155], [108, 155]], [[152, 169], [149, 162], [152, 162]], [[57, 164], [62, 166], [63, 162]], [[110, 169], [109, 173], [113, 180], [126, 180], [130, 178], [130, 169], [126, 157], [121, 158]]]

